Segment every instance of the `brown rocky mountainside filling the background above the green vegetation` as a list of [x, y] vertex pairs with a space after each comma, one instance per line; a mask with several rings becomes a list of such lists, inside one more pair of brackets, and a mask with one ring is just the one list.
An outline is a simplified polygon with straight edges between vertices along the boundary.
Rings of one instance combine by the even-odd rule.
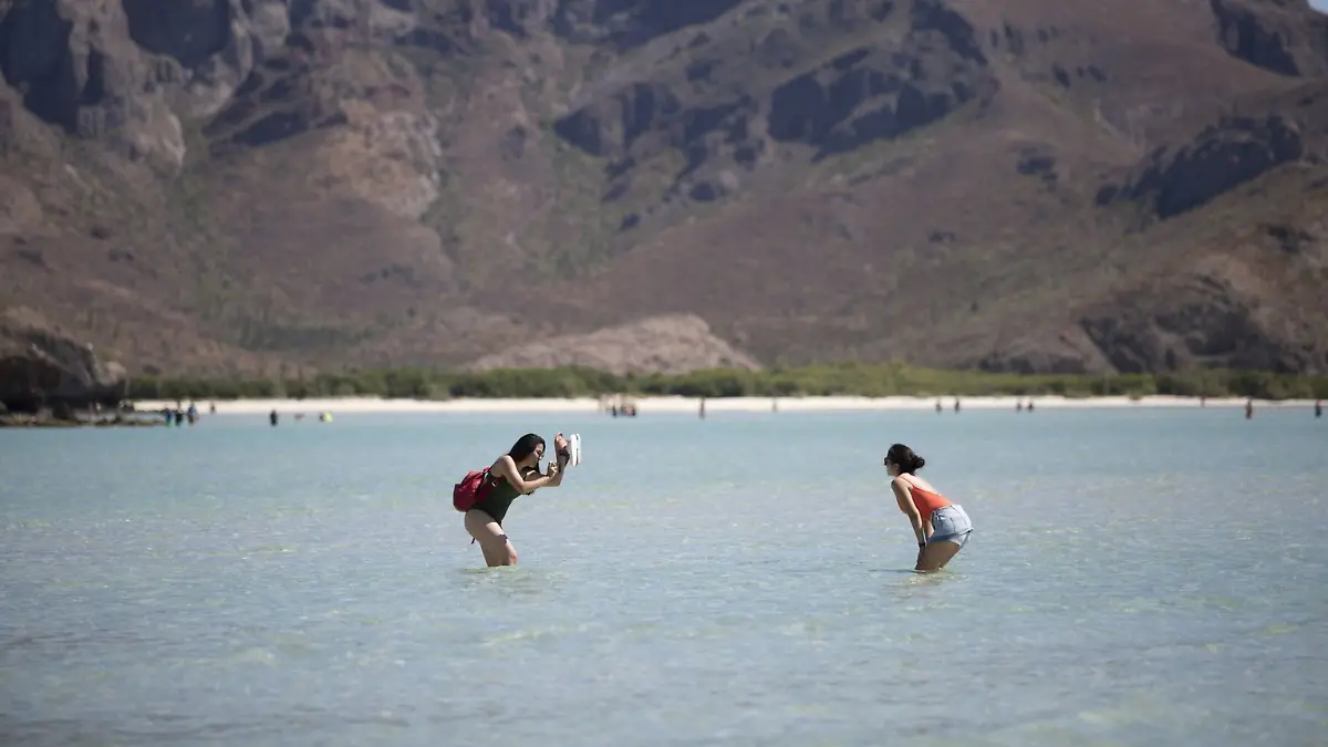
[[1323, 372], [1325, 20], [0, 0], [0, 312], [170, 374]]

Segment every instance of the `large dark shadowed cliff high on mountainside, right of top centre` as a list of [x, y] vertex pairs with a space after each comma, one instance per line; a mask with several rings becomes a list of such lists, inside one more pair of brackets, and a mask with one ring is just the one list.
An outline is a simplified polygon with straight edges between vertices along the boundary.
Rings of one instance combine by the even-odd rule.
[[[699, 4], [677, 3], [668, 13], [699, 23], [726, 5], [709, 3], [703, 13], [689, 11]], [[745, 174], [781, 146], [805, 148], [813, 160], [851, 152], [926, 128], [999, 88], [973, 27], [939, 0], [810, 0], [798, 9], [797, 35], [793, 20], [772, 8], [753, 5], [748, 16], [776, 20], [712, 24], [691, 39], [685, 56], [675, 49], [653, 66], [624, 70], [615, 77], [640, 77], [596, 86], [554, 124], [571, 145], [611, 161], [606, 202], [649, 190], [624, 230], [673, 214], [679, 203], [738, 193]], [[827, 60], [826, 47], [845, 28], [874, 31], [865, 35], [870, 41]], [[665, 158], [683, 162], [671, 181], [637, 183], [652, 179]]]

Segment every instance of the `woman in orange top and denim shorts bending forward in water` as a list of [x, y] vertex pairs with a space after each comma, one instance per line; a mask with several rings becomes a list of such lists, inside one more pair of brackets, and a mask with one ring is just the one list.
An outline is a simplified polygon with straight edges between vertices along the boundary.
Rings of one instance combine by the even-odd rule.
[[918, 565], [914, 570], [932, 572], [946, 568], [950, 558], [963, 549], [973, 532], [973, 522], [964, 506], [942, 496], [931, 482], [918, 477], [927, 460], [903, 444], [886, 452], [886, 472], [892, 480], [899, 510], [908, 517], [918, 540]]

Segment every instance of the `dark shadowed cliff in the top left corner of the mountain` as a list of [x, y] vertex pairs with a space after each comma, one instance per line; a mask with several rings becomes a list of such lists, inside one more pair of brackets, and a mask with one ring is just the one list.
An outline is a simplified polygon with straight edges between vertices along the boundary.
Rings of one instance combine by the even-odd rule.
[[68, 134], [178, 169], [181, 117], [220, 109], [287, 31], [280, 0], [36, 0], [0, 21], [0, 72]]

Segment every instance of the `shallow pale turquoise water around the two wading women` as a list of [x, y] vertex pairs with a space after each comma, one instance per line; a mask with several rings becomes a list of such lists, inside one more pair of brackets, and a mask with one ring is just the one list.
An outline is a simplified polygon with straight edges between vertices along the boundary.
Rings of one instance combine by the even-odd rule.
[[[482, 570], [449, 490], [586, 463]], [[891, 441], [976, 532], [935, 576]], [[1317, 746], [1328, 421], [215, 416], [0, 432], [0, 743]]]

